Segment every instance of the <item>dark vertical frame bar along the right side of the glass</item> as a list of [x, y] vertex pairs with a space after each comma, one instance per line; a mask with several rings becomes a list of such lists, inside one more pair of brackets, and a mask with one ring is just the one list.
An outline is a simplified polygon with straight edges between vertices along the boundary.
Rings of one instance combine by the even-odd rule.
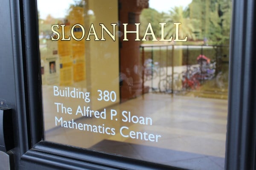
[[256, 2], [234, 0], [226, 144], [227, 170], [255, 169]]

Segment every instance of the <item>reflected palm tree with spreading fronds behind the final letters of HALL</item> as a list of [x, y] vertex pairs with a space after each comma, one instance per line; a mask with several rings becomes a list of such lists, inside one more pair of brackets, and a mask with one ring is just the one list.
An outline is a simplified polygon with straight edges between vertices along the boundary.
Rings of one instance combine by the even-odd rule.
[[167, 23], [165, 27], [165, 37], [169, 38], [175, 35], [176, 28], [173, 23], [181, 23], [179, 27], [179, 36], [188, 36], [189, 39], [195, 40], [192, 20], [189, 17], [186, 17], [186, 11], [183, 10], [182, 6], [172, 8], [172, 10], [169, 11], [169, 14], [164, 14], [163, 20]]

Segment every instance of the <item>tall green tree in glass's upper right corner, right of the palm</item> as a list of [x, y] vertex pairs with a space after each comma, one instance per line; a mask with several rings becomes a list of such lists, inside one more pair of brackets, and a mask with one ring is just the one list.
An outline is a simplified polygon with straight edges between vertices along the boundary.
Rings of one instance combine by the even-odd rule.
[[198, 39], [214, 44], [229, 42], [231, 0], [192, 0], [189, 17], [198, 20], [193, 26]]

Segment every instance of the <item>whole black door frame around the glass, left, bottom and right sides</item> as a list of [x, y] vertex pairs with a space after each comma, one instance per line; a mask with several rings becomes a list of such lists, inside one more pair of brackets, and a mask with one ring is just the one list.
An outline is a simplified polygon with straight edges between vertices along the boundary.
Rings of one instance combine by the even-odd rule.
[[[0, 8], [0, 98], [12, 108], [16, 169], [179, 169], [44, 142], [36, 2], [7, 0]], [[256, 3], [233, 0], [232, 8], [225, 166], [250, 170], [256, 151]]]

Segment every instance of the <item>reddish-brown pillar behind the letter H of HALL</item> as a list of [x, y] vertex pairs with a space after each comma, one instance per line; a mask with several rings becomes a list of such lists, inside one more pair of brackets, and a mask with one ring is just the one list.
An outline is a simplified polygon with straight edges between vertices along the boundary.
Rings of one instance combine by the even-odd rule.
[[[124, 32], [122, 23], [128, 23], [127, 31], [136, 31], [134, 23], [140, 23], [140, 13], [148, 8], [148, 0], [119, 0], [119, 31]], [[122, 34], [121, 33], [121, 34]], [[128, 33], [123, 41], [120, 37], [120, 93], [121, 102], [142, 94], [142, 66], [140, 55], [141, 41], [135, 41], [136, 33]]]

